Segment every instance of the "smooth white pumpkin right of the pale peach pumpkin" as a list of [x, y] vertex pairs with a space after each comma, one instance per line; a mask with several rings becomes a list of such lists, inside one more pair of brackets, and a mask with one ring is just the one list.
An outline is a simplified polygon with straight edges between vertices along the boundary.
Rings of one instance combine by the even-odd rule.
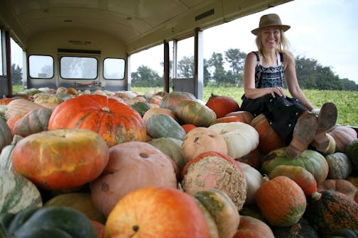
[[249, 124], [216, 123], [209, 127], [224, 137], [227, 142], [227, 154], [232, 159], [243, 157], [253, 151], [259, 145], [259, 132]]

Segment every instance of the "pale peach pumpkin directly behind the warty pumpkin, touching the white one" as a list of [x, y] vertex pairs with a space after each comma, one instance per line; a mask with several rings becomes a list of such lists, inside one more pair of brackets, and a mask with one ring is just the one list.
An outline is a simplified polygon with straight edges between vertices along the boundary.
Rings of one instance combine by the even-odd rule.
[[222, 135], [210, 128], [195, 128], [185, 135], [183, 140], [185, 162], [195, 159], [202, 152], [220, 152], [227, 154], [227, 143]]

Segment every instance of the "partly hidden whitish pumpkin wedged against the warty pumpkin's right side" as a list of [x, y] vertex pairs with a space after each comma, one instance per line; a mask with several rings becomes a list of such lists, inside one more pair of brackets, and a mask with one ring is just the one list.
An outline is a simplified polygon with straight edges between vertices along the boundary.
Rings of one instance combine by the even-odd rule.
[[264, 177], [261, 173], [255, 169], [253, 166], [236, 161], [239, 166], [242, 167], [242, 172], [245, 177], [245, 189], [246, 189], [246, 200], [245, 204], [254, 204], [255, 203], [255, 194], [257, 189], [264, 182]]

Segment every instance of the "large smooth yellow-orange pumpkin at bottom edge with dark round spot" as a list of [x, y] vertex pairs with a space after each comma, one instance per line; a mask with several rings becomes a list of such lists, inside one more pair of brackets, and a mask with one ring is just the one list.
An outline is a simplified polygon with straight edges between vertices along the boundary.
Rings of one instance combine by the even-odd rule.
[[175, 188], [146, 187], [119, 200], [109, 214], [105, 237], [209, 238], [195, 199]]

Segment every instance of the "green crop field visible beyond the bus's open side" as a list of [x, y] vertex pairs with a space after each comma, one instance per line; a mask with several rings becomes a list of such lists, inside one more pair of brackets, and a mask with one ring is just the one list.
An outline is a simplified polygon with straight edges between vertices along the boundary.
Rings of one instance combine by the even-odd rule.
[[[139, 91], [144, 94], [151, 89], [163, 90], [162, 88], [132, 87], [131, 91]], [[337, 124], [358, 127], [358, 91], [318, 91], [306, 89], [303, 90], [303, 92], [316, 108], [320, 108], [323, 103], [328, 101], [335, 103], [338, 110]], [[211, 94], [229, 96], [241, 105], [244, 88], [205, 87], [203, 91], [203, 101], [207, 101]], [[287, 91], [286, 94], [290, 96]]]

